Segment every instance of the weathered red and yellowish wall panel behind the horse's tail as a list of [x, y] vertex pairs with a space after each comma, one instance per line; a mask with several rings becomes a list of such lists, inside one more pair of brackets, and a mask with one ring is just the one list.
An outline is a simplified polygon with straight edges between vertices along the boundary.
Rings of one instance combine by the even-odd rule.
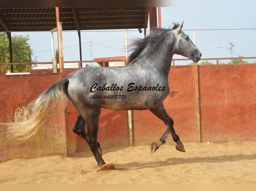
[[[60, 79], [61, 74], [0, 76], [0, 123], [14, 121], [16, 108], [33, 101]], [[64, 112], [49, 117], [33, 139], [7, 139], [4, 125], [0, 125], [0, 132], [0, 162], [14, 158], [67, 154]]]

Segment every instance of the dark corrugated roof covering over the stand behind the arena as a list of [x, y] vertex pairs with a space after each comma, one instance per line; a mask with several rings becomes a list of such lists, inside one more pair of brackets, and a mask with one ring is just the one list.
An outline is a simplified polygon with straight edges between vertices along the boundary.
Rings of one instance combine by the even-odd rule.
[[[146, 7], [59, 7], [62, 30], [144, 29]], [[49, 31], [56, 27], [55, 7], [0, 8], [0, 32]]]

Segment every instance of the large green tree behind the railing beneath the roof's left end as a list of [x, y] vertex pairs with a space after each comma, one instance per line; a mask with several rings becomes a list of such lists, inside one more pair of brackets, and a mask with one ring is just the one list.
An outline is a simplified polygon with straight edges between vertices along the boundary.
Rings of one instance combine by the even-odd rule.
[[[32, 62], [32, 49], [28, 43], [29, 35], [14, 35], [12, 37], [12, 61], [13, 62]], [[10, 62], [9, 39], [6, 33], [0, 33], [0, 62]], [[1, 66], [2, 67], [2, 66]], [[5, 65], [5, 71], [9, 71], [10, 65]], [[2, 68], [0, 68], [2, 70]], [[13, 72], [29, 72], [29, 65], [13, 65]]]

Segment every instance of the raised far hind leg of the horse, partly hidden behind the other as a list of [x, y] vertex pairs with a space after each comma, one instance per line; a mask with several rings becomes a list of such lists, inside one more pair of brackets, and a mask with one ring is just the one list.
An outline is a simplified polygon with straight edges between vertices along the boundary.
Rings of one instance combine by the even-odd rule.
[[[80, 115], [80, 113], [78, 113], [77, 121], [73, 127], [73, 132], [86, 140], [87, 135], [85, 132], [85, 124], [86, 124], [85, 119]], [[97, 149], [100, 152], [100, 155], [102, 156], [102, 149], [100, 147], [99, 142], [97, 142]]]

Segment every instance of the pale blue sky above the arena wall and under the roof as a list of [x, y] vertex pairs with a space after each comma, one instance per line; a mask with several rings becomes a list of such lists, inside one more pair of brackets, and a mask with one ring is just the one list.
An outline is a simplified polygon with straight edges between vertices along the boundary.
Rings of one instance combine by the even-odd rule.
[[[172, 27], [172, 22], [183, 24], [183, 31], [193, 41], [193, 29], [196, 29], [196, 45], [202, 52], [202, 58], [231, 57], [228, 42], [233, 45], [233, 57], [256, 56], [256, 1], [253, 0], [183, 0], [173, 1], [173, 7], [161, 8], [162, 28]], [[244, 30], [211, 30], [244, 29]], [[149, 30], [149, 24], [148, 29]], [[23, 32], [12, 35], [29, 34], [29, 43], [33, 49], [32, 60], [51, 62], [50, 32]], [[128, 41], [144, 37], [138, 29], [128, 30]], [[102, 32], [82, 31], [82, 60], [91, 60], [90, 41], [93, 58], [125, 56], [125, 30]], [[54, 33], [54, 46], [57, 47], [57, 33]], [[78, 61], [78, 33], [63, 31], [64, 61]], [[184, 58], [174, 56], [173, 58]]]

